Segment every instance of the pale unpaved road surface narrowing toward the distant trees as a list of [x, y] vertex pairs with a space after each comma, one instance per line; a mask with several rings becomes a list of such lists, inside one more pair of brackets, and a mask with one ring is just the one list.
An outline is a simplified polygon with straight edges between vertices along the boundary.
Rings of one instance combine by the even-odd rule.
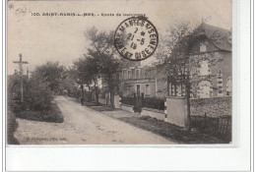
[[17, 119], [15, 137], [21, 144], [156, 144], [172, 143], [156, 134], [133, 127], [81, 106], [72, 98], [56, 97], [63, 123]]

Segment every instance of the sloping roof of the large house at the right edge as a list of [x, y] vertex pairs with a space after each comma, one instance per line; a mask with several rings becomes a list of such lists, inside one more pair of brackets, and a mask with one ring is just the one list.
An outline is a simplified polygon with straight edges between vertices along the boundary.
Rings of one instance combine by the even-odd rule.
[[195, 30], [195, 33], [205, 34], [221, 50], [232, 50], [232, 45], [230, 43], [231, 31], [228, 29], [222, 29], [202, 23], [198, 29]]

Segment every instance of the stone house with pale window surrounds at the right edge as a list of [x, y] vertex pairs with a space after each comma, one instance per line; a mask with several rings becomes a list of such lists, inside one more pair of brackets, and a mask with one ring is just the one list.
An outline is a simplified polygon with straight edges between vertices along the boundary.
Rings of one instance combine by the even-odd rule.
[[[189, 54], [191, 98], [229, 96], [232, 92], [231, 32], [205, 23], [195, 29]], [[186, 39], [186, 36], [184, 36]], [[182, 39], [180, 40], [182, 41]], [[196, 80], [194, 79], [196, 78]], [[169, 95], [184, 96], [185, 86], [170, 83]]]

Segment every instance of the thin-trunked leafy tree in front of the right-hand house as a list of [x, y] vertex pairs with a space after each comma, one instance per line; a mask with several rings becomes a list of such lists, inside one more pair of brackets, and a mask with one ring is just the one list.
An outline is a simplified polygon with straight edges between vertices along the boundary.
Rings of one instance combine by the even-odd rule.
[[[187, 100], [186, 129], [188, 131], [191, 129], [190, 95], [193, 93], [190, 87], [200, 81], [208, 81], [213, 77], [217, 77], [217, 75], [199, 76], [197, 72], [194, 72], [194, 69], [201, 67], [200, 61], [208, 61], [210, 67], [223, 61], [222, 57], [216, 52], [209, 52], [202, 57], [200, 56], [200, 58], [190, 57], [193, 46], [200, 39], [202, 31], [202, 28], [193, 28], [189, 26], [189, 23], [180, 23], [173, 26], [169, 29], [170, 36], [164, 41], [167, 48], [164, 52], [161, 52], [163, 58], [160, 59], [165, 64], [167, 90], [169, 91], [170, 84], [175, 86], [175, 91], [176, 86], [185, 86]], [[211, 39], [222, 39], [222, 36], [218, 33], [213, 33]], [[176, 95], [176, 92], [174, 94]]]

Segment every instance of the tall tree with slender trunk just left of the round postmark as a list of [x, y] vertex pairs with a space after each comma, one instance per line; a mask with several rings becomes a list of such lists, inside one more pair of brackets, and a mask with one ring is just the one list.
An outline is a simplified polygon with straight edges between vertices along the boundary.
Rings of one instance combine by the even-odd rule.
[[92, 28], [85, 34], [91, 41], [88, 55], [95, 60], [98, 73], [108, 86], [110, 105], [111, 108], [114, 108], [114, 94], [119, 86], [119, 61], [116, 58], [117, 54], [114, 47], [114, 31], [98, 32], [96, 28]]

